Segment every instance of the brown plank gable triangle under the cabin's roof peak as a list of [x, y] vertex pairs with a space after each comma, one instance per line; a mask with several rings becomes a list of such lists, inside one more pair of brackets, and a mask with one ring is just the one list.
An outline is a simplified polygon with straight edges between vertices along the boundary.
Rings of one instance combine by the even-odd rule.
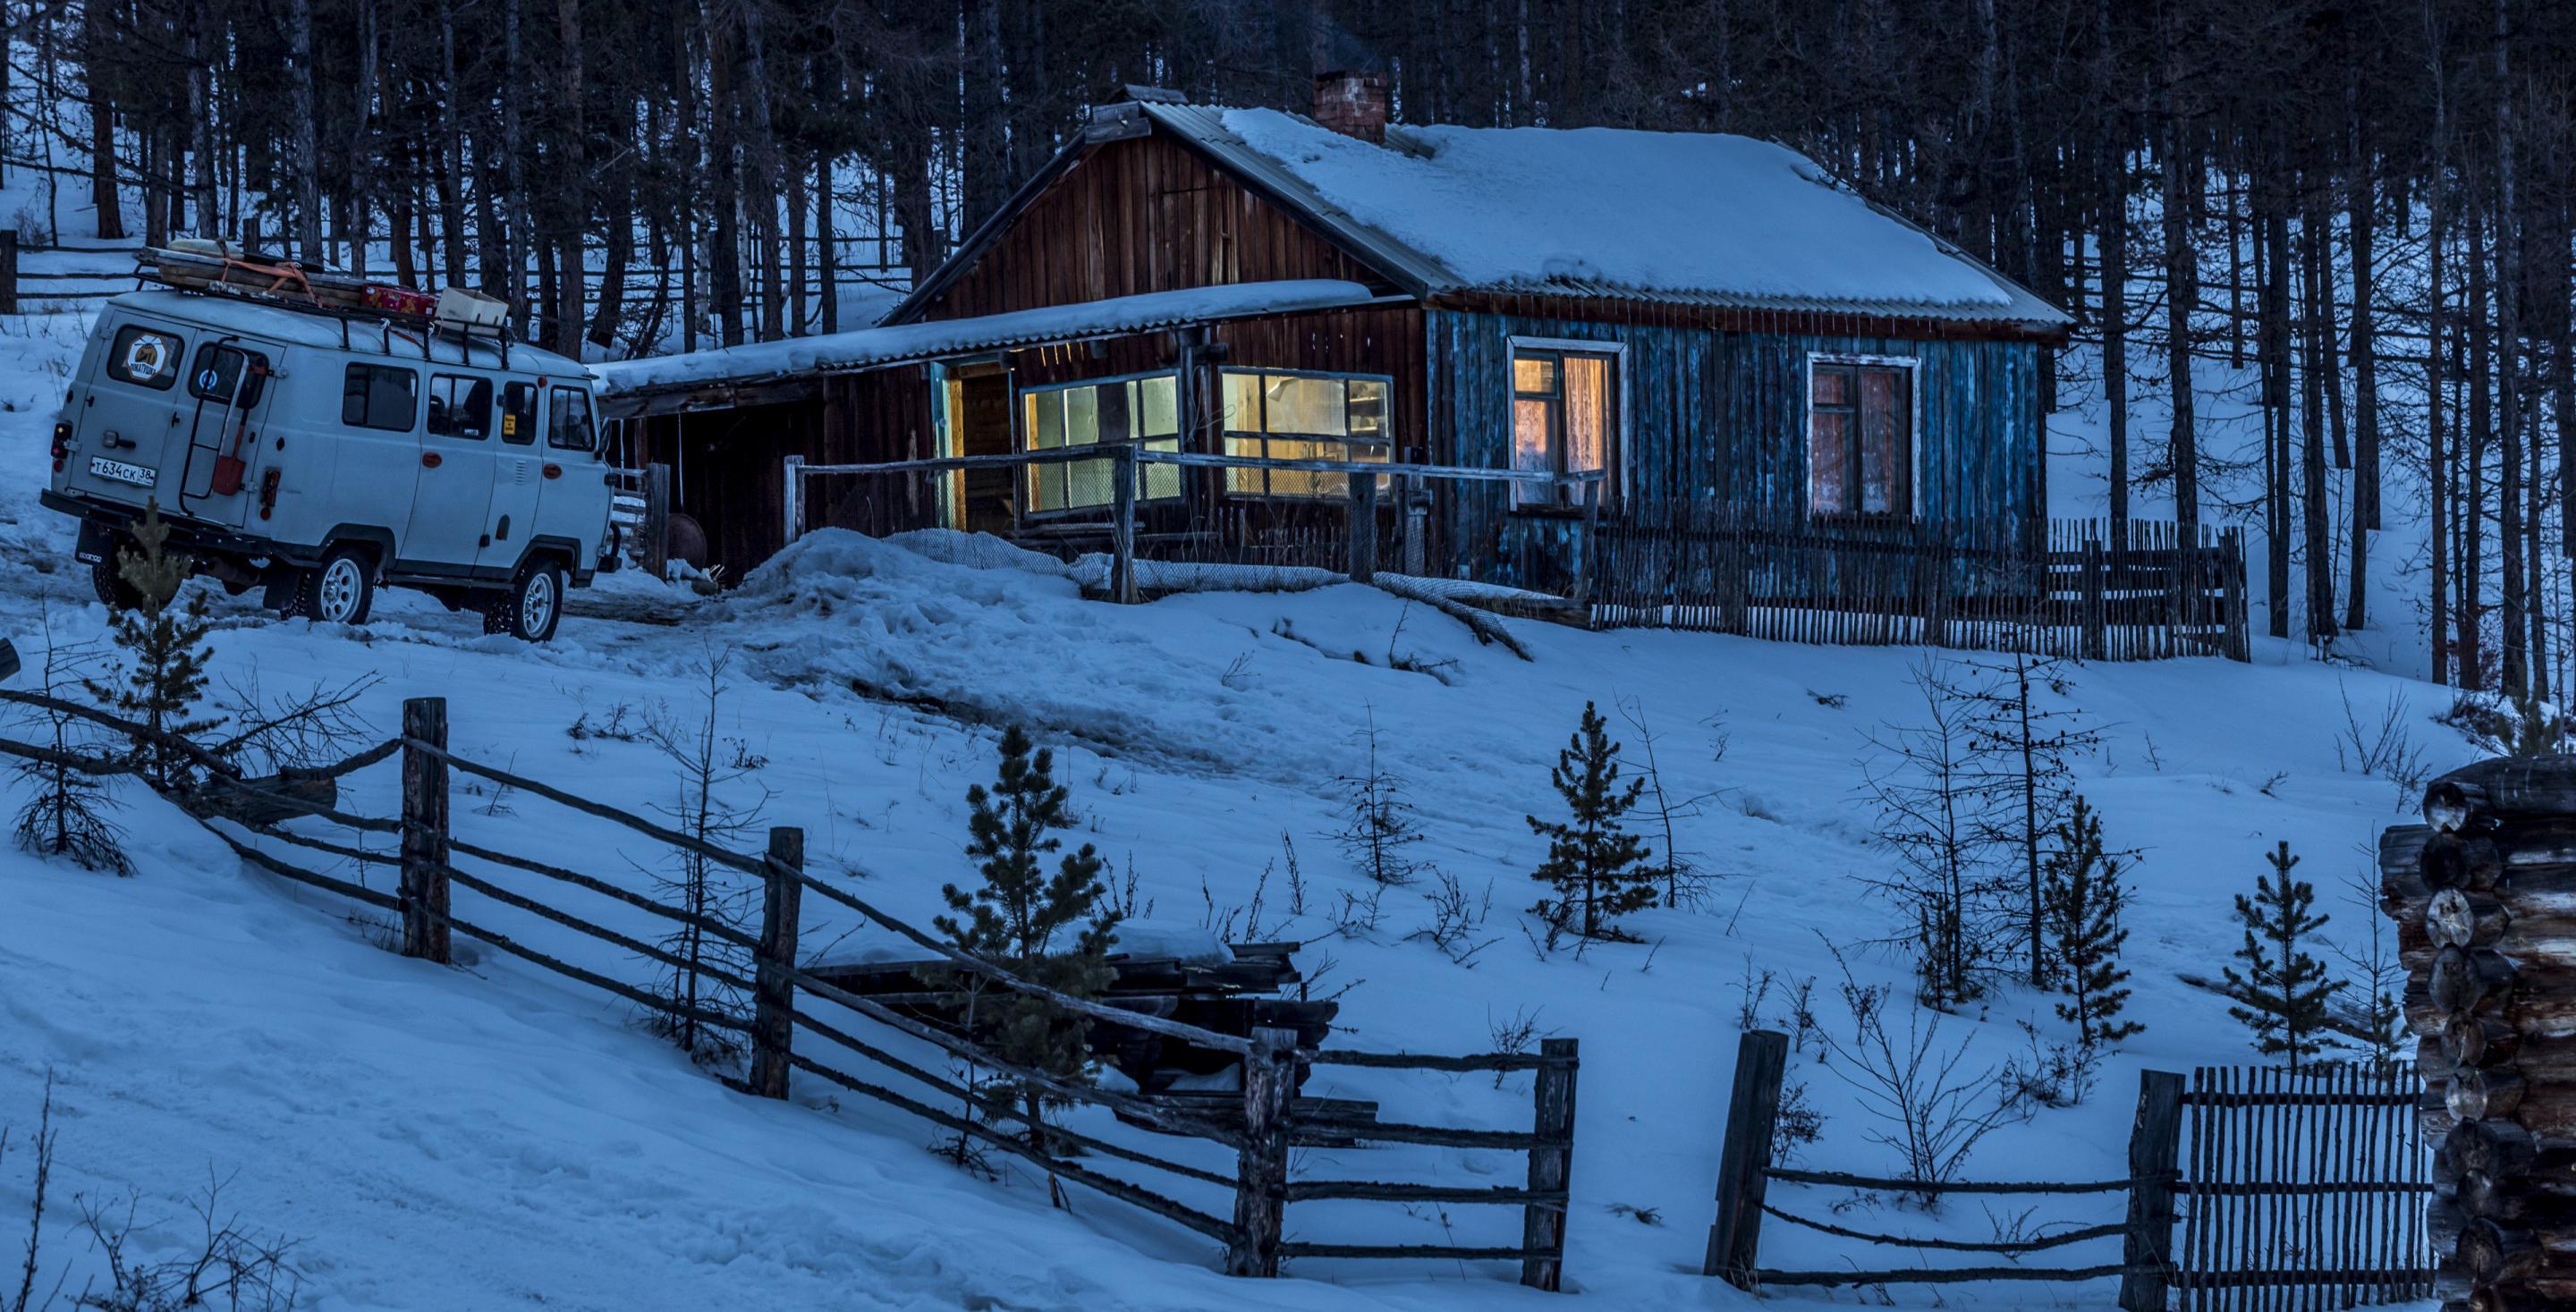
[[1002, 232], [925, 320], [1275, 278], [1383, 286], [1288, 211], [1170, 137], [1082, 157]]

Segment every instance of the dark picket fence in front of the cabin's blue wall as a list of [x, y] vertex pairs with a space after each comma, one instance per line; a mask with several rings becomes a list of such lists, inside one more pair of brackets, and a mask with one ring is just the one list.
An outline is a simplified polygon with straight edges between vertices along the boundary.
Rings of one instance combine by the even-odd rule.
[[1595, 534], [1602, 629], [2249, 657], [2239, 528], [2202, 528], [2184, 546], [2174, 523], [2151, 521], [1816, 521], [1638, 505], [1605, 513]]

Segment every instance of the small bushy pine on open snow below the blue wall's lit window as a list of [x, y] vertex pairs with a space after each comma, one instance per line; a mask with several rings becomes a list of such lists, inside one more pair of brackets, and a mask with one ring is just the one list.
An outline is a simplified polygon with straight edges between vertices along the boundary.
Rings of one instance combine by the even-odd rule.
[[1533, 876], [1553, 884], [1556, 897], [1530, 910], [1548, 920], [1551, 933], [1579, 928], [1584, 938], [1628, 938], [1613, 918], [1656, 900], [1662, 871], [1649, 861], [1654, 853], [1620, 825], [1646, 781], [1620, 786], [1618, 742], [1610, 742], [1605, 727], [1600, 709], [1584, 701], [1582, 727], [1548, 771], [1569, 817], [1528, 817], [1530, 833], [1548, 840], [1548, 858]]

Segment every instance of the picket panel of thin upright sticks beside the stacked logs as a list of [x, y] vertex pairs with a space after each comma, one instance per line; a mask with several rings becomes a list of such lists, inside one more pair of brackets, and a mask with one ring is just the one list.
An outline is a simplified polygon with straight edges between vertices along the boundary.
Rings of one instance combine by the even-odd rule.
[[2411, 1070], [2200, 1067], [2182, 1108], [2177, 1307], [2432, 1297], [2432, 1150]]

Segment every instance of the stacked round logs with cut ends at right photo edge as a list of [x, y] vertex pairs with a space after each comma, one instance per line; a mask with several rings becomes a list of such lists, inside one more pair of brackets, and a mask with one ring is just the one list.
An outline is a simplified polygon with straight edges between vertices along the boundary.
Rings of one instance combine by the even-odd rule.
[[2380, 835], [2406, 1023], [2439, 1139], [2445, 1312], [2576, 1304], [2576, 758], [2437, 778]]

